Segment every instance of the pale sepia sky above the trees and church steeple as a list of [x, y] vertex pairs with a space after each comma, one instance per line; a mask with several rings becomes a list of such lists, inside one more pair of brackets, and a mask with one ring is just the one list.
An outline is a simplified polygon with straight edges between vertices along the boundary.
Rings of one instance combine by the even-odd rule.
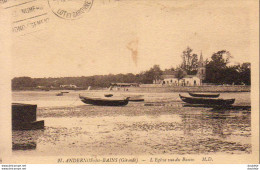
[[249, 62], [252, 5], [235, 2], [95, 1], [73, 21], [49, 11], [47, 29], [13, 38], [12, 73], [66, 77], [139, 73], [154, 64], [165, 69], [181, 63], [187, 46], [204, 59], [225, 49], [234, 63]]

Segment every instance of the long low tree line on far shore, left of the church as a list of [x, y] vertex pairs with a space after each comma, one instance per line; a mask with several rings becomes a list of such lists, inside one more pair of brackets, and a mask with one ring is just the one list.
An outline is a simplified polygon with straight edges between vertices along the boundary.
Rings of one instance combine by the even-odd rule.
[[[154, 70], [155, 69], [155, 70]], [[109, 75], [94, 75], [81, 77], [59, 77], [59, 78], [31, 78], [31, 77], [15, 77], [12, 79], [13, 90], [33, 89], [37, 87], [45, 88], [59, 88], [61, 85], [76, 85], [86, 89], [88, 86], [92, 87], [109, 87], [111, 83], [139, 83], [149, 84], [153, 83], [154, 77], [159, 77], [158, 65], [154, 66], [148, 71], [139, 74], [109, 74]], [[160, 72], [162, 72], [160, 70]]]

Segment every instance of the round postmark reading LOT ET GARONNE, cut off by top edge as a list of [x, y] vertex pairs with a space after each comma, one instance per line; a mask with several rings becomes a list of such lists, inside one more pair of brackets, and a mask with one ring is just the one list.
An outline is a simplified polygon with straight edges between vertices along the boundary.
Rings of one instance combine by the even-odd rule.
[[48, 0], [48, 4], [59, 18], [74, 20], [91, 9], [93, 0]]

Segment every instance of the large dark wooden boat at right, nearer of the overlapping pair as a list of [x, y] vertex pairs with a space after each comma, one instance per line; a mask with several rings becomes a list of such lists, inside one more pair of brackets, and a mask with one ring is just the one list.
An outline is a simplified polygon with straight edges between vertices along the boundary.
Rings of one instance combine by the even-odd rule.
[[190, 104], [203, 104], [203, 105], [222, 105], [228, 106], [235, 102], [235, 99], [214, 99], [214, 98], [198, 98], [198, 97], [185, 97], [180, 95], [182, 101]]

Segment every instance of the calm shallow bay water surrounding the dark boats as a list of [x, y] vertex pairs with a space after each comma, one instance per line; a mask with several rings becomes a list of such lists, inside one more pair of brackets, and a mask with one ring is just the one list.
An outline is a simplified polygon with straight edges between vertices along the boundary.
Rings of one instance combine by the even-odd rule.
[[[37, 119], [45, 120], [44, 130], [13, 131], [13, 143], [32, 145], [29, 150], [15, 150], [15, 155], [251, 153], [248, 110], [184, 107], [179, 93], [142, 93], [145, 102], [124, 107], [86, 105], [78, 95], [87, 91], [56, 93], [13, 92], [13, 102], [37, 104]], [[91, 95], [104, 93], [108, 92]], [[250, 105], [250, 93], [222, 93], [221, 98]], [[147, 102], [158, 106], [145, 106]]]

